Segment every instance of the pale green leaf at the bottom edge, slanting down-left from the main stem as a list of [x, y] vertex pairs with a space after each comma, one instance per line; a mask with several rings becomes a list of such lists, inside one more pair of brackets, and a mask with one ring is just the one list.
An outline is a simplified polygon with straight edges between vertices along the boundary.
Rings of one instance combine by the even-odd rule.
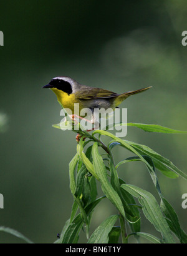
[[108, 234], [112, 230], [113, 225], [117, 222], [118, 215], [112, 215], [104, 220], [92, 233], [87, 243], [108, 243]]

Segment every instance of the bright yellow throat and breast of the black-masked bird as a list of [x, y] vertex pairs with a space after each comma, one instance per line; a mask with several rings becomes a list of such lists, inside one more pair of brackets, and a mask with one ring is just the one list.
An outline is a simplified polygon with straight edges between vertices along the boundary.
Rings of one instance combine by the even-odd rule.
[[74, 114], [74, 104], [79, 103], [79, 110], [82, 110], [84, 106], [82, 105], [82, 101], [76, 98], [75, 94], [72, 93], [68, 95], [64, 91], [58, 90], [57, 88], [51, 89], [55, 95], [57, 95], [57, 100], [64, 106], [64, 108], [69, 108]]

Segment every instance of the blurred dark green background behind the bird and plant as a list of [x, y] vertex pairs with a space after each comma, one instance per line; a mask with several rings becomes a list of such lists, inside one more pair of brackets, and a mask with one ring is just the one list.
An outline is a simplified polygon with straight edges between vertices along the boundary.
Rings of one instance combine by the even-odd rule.
[[[54, 93], [41, 87], [53, 77], [70, 76], [117, 93], [153, 86], [122, 103], [128, 108], [128, 122], [187, 130], [187, 46], [181, 44], [186, 13], [185, 0], [1, 0], [0, 113], [6, 125], [0, 133], [0, 225], [33, 242], [52, 243], [69, 218], [69, 161], [76, 141], [72, 131], [52, 128], [62, 119], [60, 106]], [[186, 135], [128, 128], [126, 139], [150, 146], [187, 173]], [[114, 154], [116, 162], [130, 155], [122, 148]], [[158, 198], [143, 164], [123, 165], [118, 175]], [[187, 209], [181, 207], [187, 181], [157, 175], [163, 195], [187, 231]], [[115, 208], [103, 200], [91, 230], [113, 213]], [[142, 221], [142, 232], [159, 236]], [[79, 242], [86, 241], [82, 232]], [[20, 242], [0, 233], [0, 243]]]

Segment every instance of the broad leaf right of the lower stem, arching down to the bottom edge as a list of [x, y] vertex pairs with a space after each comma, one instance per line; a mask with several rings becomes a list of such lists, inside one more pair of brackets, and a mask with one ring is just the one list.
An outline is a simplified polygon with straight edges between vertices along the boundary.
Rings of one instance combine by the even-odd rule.
[[175, 243], [168, 223], [161, 212], [161, 209], [156, 202], [155, 197], [150, 192], [142, 190], [134, 185], [122, 184], [121, 187], [131, 193], [133, 197], [137, 197], [145, 217], [155, 226], [156, 230], [161, 232], [165, 243]]

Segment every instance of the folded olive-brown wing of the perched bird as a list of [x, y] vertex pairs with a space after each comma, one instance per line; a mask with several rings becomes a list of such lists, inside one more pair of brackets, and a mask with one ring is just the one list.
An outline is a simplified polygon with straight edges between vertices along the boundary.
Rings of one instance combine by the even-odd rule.
[[113, 93], [113, 91], [108, 91], [101, 88], [87, 87], [87, 88], [81, 88], [81, 90], [77, 91], [76, 96], [81, 100], [91, 100], [91, 99], [101, 99], [101, 98], [113, 98], [115, 96], [118, 96], [118, 94]]

